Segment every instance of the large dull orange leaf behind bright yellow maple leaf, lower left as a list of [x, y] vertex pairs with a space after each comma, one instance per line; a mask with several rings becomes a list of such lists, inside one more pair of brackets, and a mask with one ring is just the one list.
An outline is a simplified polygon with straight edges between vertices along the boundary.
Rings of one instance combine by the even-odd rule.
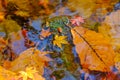
[[26, 67], [35, 67], [40, 74], [43, 74], [46, 61], [51, 59], [46, 57], [47, 52], [41, 52], [38, 49], [30, 48], [23, 51], [19, 57], [11, 63], [11, 71], [24, 71]]

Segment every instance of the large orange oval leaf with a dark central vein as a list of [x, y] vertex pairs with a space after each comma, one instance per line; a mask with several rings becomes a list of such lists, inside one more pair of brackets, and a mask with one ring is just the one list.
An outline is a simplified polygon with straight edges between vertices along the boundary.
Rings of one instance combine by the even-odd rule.
[[71, 32], [83, 68], [110, 71], [115, 56], [110, 41], [102, 34], [83, 27], [75, 27]]

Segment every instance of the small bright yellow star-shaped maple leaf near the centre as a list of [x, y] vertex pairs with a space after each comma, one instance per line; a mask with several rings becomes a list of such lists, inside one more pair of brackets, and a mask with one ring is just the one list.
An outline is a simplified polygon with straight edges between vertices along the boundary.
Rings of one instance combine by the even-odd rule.
[[62, 44], [68, 44], [68, 42], [65, 39], [66, 36], [55, 35], [55, 40], [53, 41], [53, 44], [62, 48]]

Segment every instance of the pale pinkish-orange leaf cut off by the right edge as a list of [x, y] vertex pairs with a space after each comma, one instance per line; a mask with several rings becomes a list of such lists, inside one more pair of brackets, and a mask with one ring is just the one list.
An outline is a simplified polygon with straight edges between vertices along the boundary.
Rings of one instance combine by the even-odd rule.
[[[110, 15], [105, 17], [105, 24], [109, 25], [109, 28], [102, 28], [105, 29], [105, 32], [111, 37], [114, 48], [120, 49], [120, 10], [111, 12]], [[109, 30], [109, 31], [108, 31]]]

